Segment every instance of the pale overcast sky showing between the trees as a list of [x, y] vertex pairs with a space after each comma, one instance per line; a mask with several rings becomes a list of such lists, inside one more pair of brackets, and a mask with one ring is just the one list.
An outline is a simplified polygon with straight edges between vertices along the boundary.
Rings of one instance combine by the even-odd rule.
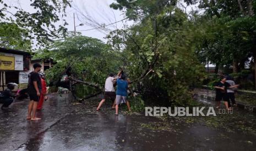
[[[29, 4], [31, 3], [30, 0], [6, 0], [9, 5], [13, 7], [22, 8], [30, 13], [34, 13], [35, 9], [33, 9]], [[102, 29], [98, 30], [90, 30], [95, 27], [100, 27], [102, 25], [109, 25], [117, 21], [117, 24], [113, 24], [110, 26], [106, 26], [110, 30], [115, 30], [117, 28], [122, 28], [124, 25], [132, 25], [133, 22], [123, 20], [124, 15], [123, 12], [119, 10], [113, 10], [110, 8], [110, 4], [115, 1], [113, 0], [73, 0], [71, 5], [72, 7], [67, 8], [66, 19], [68, 24], [66, 27], [68, 31], [74, 31], [74, 15], [75, 15], [75, 25], [76, 30], [80, 31], [82, 35], [98, 38], [101, 40], [106, 40], [106, 34], [109, 31], [105, 31]], [[12, 10], [13, 13], [17, 11], [17, 9]], [[90, 20], [88, 20], [85, 16], [89, 16]], [[60, 15], [60, 19], [62, 19]], [[121, 21], [123, 20], [123, 21]], [[96, 24], [96, 22], [98, 24]], [[56, 26], [59, 24], [63, 24], [62, 21], [56, 22]], [[78, 26], [79, 24], [84, 24], [83, 26]], [[90, 24], [90, 25], [89, 25]], [[89, 31], [84, 31], [89, 30]]]

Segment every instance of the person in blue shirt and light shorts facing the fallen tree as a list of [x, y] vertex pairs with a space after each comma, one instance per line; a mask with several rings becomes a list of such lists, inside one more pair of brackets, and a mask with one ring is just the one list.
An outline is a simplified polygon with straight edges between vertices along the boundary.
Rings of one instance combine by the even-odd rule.
[[116, 92], [116, 115], [118, 115], [118, 105], [121, 103], [126, 103], [128, 110], [130, 111], [130, 104], [127, 100], [128, 97], [128, 82], [126, 80], [126, 75], [122, 74], [120, 78], [117, 79], [117, 92]]

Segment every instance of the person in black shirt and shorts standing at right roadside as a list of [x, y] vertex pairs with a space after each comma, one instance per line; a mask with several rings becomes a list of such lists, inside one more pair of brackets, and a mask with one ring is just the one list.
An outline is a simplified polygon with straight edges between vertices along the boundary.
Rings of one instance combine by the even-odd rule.
[[228, 107], [228, 96], [227, 96], [227, 89], [237, 88], [238, 85], [231, 86], [229, 83], [226, 82], [226, 77], [221, 77], [220, 82], [216, 83], [214, 88], [216, 89], [216, 108], [220, 108], [220, 101], [224, 100], [224, 104], [226, 109], [230, 110], [231, 108]]

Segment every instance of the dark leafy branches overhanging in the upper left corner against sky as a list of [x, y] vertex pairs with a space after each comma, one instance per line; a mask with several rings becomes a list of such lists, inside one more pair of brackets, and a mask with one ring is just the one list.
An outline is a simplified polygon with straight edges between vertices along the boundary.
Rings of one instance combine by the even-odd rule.
[[16, 24], [21, 29], [28, 30], [28, 37], [36, 40], [37, 46], [44, 46], [58, 36], [59, 32], [66, 32], [66, 20], [63, 25], [56, 27], [53, 23], [59, 21], [59, 15], [66, 16], [65, 11], [70, 2], [68, 0], [34, 0], [30, 2], [33, 11], [21, 7], [8, 5], [5, 0], [0, 0], [1, 22]]

